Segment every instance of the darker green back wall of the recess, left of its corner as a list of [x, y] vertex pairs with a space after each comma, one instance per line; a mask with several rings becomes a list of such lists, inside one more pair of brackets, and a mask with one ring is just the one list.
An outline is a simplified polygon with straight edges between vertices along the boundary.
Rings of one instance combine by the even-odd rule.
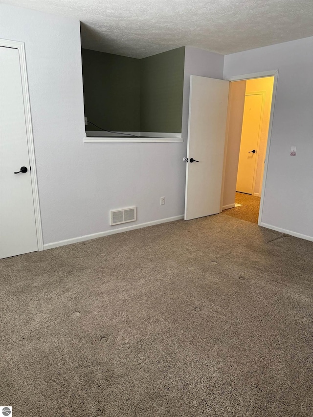
[[[109, 131], [140, 130], [140, 61], [82, 49], [85, 116]], [[98, 130], [89, 124], [86, 130]]]

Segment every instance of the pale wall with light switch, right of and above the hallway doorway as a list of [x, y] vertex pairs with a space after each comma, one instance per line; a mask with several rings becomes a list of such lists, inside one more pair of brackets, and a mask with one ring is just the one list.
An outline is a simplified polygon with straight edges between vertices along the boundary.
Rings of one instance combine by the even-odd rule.
[[[279, 70], [262, 222], [313, 240], [313, 37], [226, 55], [224, 77]], [[290, 156], [291, 146], [297, 147]]]

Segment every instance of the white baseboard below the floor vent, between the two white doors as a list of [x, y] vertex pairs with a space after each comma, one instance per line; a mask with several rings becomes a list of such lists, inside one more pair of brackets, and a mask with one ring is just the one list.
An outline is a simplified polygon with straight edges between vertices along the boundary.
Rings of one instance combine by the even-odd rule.
[[147, 223], [134, 224], [133, 226], [120, 227], [119, 229], [106, 230], [105, 232], [99, 232], [99, 233], [93, 233], [91, 235], [79, 236], [77, 238], [67, 239], [65, 241], [46, 243], [46, 244], [44, 244], [44, 250], [52, 249], [52, 248], [58, 247], [58, 246], [70, 245], [72, 243], [89, 241], [90, 239], [102, 238], [103, 236], [114, 235], [115, 233], [122, 233], [122, 232], [128, 232], [129, 230], [141, 229], [142, 227], [148, 227], [148, 226], [154, 226], [156, 224], [167, 223], [169, 221], [181, 220], [183, 218], [184, 218], [184, 215], [168, 217], [167, 219], [159, 219], [159, 220], [154, 220], [154, 221], [148, 221]]

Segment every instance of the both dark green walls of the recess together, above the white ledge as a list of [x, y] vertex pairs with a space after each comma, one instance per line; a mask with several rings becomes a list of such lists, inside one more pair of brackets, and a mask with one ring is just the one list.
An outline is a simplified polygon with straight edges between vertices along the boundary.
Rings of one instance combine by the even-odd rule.
[[85, 116], [111, 131], [181, 132], [184, 56], [185, 47], [141, 60], [82, 49]]

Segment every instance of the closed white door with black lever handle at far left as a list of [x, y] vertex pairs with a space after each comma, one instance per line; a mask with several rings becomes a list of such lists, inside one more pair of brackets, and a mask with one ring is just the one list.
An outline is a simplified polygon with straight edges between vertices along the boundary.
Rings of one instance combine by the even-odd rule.
[[36, 250], [19, 51], [0, 46], [0, 258]]

